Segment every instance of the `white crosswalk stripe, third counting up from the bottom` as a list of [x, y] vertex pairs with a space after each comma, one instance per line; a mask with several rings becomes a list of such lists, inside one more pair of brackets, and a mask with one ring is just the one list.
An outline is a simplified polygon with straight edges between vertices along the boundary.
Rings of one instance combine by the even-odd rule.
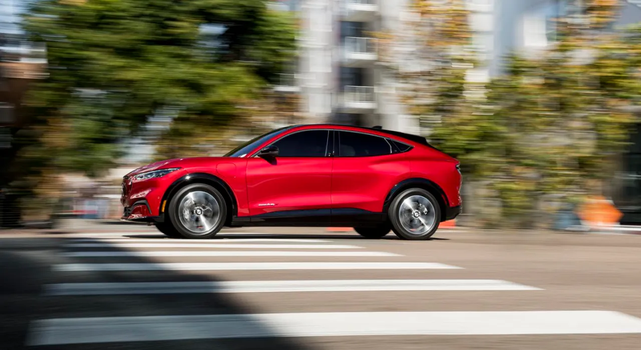
[[61, 264], [64, 271], [142, 271], [142, 270], [402, 270], [460, 268], [440, 263], [111, 263]]

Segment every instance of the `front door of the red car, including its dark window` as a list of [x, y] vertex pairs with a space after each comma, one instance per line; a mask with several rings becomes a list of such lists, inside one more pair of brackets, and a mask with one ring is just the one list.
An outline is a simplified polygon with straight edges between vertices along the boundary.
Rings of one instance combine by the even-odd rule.
[[[274, 143], [274, 159], [247, 159], [247, 197], [252, 221], [304, 222], [329, 218], [331, 167], [328, 130], [302, 130]], [[258, 216], [258, 217], [257, 217]], [[313, 219], [312, 219], [313, 221]]]

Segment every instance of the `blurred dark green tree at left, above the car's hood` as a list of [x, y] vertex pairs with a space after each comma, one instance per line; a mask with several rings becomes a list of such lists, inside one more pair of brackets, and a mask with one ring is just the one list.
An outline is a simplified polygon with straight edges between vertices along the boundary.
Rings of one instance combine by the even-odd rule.
[[175, 142], [246, 115], [294, 55], [294, 18], [268, 3], [31, 3], [24, 28], [46, 42], [49, 78], [29, 94], [14, 184], [54, 196], [51, 176], [100, 175], [159, 111], [174, 113]]

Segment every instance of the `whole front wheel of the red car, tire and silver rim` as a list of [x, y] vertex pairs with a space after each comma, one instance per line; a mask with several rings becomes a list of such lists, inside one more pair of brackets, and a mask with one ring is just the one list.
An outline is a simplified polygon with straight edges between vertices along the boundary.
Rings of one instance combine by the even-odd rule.
[[169, 200], [167, 214], [183, 238], [206, 240], [221, 231], [227, 217], [227, 204], [212, 186], [191, 184], [179, 189]]

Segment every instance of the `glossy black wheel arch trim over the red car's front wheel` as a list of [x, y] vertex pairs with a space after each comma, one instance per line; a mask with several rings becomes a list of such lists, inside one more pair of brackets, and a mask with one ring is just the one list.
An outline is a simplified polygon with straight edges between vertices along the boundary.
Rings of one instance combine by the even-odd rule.
[[[233, 216], [238, 214], [238, 202], [236, 199], [236, 196], [234, 195], [233, 191], [229, 187], [229, 185], [224, 182], [221, 178], [209, 174], [209, 173], [190, 173], [187, 174], [180, 179], [174, 181], [169, 188], [167, 188], [167, 191], [165, 191], [165, 195], [163, 195], [162, 200], [160, 201], [160, 209], [159, 212], [163, 217], [165, 217], [165, 220], [167, 220], [165, 214], [167, 212], [167, 208], [169, 208], [169, 201], [171, 200], [172, 197], [181, 188], [184, 188], [185, 186], [191, 185], [191, 184], [206, 184], [209, 186], [212, 186], [213, 188], [217, 189], [222, 197], [225, 200], [225, 203], [227, 204], [227, 217], [225, 218], [225, 225], [229, 225], [231, 223], [231, 219]], [[167, 204], [165, 205], [165, 211], [162, 211], [162, 204], [167, 200]]]

